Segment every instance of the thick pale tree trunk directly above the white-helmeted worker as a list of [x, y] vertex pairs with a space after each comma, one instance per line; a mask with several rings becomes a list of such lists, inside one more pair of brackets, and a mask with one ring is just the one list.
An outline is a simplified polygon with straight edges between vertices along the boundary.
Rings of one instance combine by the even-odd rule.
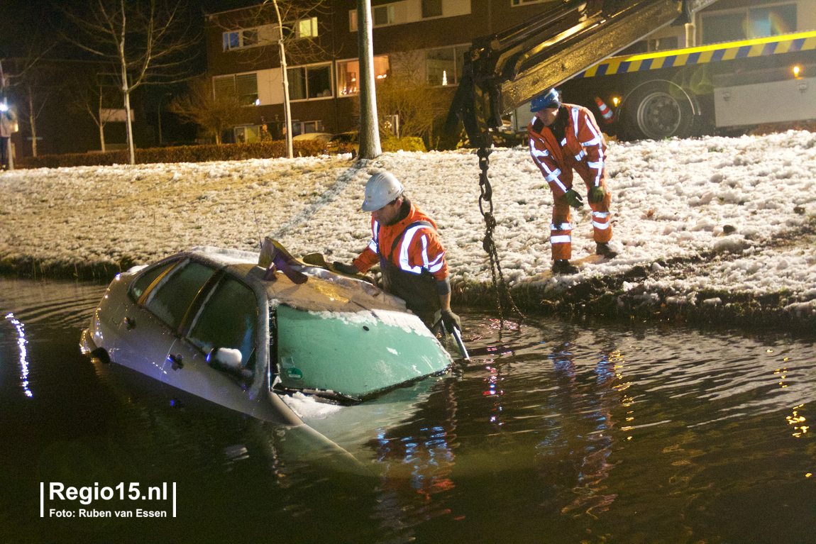
[[357, 51], [360, 55], [361, 159], [379, 157], [379, 123], [374, 77], [374, 41], [371, 35], [371, 0], [357, 0]]

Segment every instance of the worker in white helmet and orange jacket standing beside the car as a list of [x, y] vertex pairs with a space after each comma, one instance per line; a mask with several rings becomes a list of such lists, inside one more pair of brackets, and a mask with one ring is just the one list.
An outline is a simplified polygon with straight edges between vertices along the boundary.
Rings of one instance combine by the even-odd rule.
[[459, 316], [450, 310], [448, 264], [437, 223], [403, 191], [390, 172], [370, 177], [362, 210], [371, 212], [371, 241], [352, 265], [335, 262], [334, 268], [356, 274], [379, 263], [385, 290], [405, 300], [429, 329], [436, 331], [441, 321], [448, 332], [461, 330]]

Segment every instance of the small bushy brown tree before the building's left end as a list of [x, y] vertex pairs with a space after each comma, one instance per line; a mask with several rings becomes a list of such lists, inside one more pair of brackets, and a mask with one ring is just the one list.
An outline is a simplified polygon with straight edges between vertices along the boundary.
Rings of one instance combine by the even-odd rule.
[[202, 126], [207, 135], [215, 136], [215, 144], [221, 144], [224, 130], [240, 122], [243, 106], [234, 94], [215, 95], [211, 79], [205, 75], [189, 83], [188, 94], [173, 99], [170, 111]]

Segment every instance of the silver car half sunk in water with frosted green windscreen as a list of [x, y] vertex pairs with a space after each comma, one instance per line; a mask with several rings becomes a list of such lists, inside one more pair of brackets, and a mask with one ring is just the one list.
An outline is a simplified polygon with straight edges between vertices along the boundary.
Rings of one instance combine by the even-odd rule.
[[405, 303], [293, 259], [197, 247], [118, 275], [82, 352], [255, 418], [298, 425], [291, 400], [359, 404], [453, 360]]

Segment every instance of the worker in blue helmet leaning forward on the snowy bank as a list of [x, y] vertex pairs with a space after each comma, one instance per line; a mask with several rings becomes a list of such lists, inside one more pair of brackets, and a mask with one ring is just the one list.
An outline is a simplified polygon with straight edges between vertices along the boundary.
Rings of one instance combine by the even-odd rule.
[[535, 113], [527, 126], [530, 155], [547, 180], [554, 199], [550, 225], [552, 272], [578, 272], [578, 268], [570, 263], [570, 206], [578, 210], [583, 206], [583, 200], [572, 188], [573, 170], [578, 172], [587, 186], [596, 254], [613, 259], [617, 253], [609, 245], [612, 226], [611, 193], [606, 188], [606, 143], [595, 117], [583, 106], [561, 104], [555, 89], [536, 97], [530, 104], [530, 111]]

